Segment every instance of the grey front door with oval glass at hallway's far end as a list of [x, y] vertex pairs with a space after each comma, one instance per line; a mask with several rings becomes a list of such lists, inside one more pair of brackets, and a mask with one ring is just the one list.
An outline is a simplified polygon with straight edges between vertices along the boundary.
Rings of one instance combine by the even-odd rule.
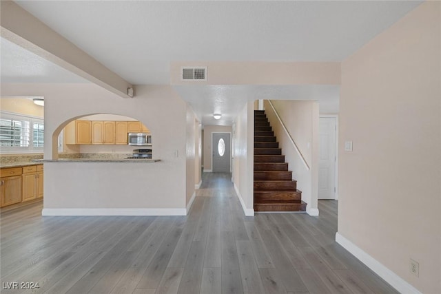
[[213, 133], [213, 172], [229, 173], [229, 162], [231, 160], [230, 134]]

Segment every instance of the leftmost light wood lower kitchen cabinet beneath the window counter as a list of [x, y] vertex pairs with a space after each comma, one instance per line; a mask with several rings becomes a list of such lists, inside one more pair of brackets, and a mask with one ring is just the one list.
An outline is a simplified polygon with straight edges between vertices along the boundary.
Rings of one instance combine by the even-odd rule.
[[1, 169], [0, 207], [21, 202], [21, 167]]

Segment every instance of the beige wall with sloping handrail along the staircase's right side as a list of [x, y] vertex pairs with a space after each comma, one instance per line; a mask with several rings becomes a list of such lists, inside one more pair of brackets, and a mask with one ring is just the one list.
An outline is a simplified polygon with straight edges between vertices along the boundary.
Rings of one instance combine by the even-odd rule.
[[265, 113], [277, 137], [279, 147], [282, 148], [289, 170], [293, 171], [293, 178], [297, 180], [297, 189], [302, 191], [302, 201], [308, 204], [307, 212], [317, 215], [318, 103], [316, 101], [271, 101], [308, 167], [303, 164], [302, 158], [279, 123], [269, 102], [265, 100], [264, 103]]

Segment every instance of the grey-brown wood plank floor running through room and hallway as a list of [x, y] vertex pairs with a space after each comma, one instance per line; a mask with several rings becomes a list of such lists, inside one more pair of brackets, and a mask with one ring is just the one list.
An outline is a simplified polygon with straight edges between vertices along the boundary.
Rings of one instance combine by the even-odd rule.
[[[188, 216], [42, 217], [1, 211], [1, 293], [398, 293], [334, 242], [320, 216], [245, 217], [231, 174], [204, 174]], [[39, 283], [34, 290], [20, 282]]]

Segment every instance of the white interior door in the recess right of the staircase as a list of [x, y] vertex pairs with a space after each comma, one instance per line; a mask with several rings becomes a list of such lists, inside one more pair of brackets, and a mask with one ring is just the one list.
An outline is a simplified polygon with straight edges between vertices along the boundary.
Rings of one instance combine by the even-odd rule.
[[320, 117], [318, 199], [336, 199], [336, 118]]

